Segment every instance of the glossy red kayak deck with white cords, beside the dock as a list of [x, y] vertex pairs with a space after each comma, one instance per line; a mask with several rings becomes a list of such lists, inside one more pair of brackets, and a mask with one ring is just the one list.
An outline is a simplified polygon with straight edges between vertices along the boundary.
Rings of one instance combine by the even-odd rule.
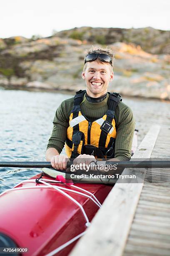
[[68, 255], [112, 185], [65, 184], [47, 175], [37, 183], [39, 177], [0, 194], [0, 246], [23, 248], [15, 255]]

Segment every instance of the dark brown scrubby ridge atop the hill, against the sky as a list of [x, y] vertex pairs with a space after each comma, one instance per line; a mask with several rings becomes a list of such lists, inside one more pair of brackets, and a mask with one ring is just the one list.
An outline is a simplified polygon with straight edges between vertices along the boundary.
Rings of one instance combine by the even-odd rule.
[[151, 27], [130, 29], [81, 27], [60, 31], [55, 36], [86, 40], [90, 44], [108, 45], [119, 41], [140, 45], [144, 51], [152, 54], [170, 54], [170, 31]]

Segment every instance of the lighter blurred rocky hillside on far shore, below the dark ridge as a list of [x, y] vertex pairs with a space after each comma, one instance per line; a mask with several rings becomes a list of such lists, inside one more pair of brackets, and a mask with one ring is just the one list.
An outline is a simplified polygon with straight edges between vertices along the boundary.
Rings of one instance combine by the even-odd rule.
[[[85, 51], [91, 44], [69, 37], [68, 31], [67, 35], [61, 32], [37, 40], [0, 39], [0, 87], [68, 93], [85, 89], [81, 72]], [[170, 100], [170, 54], [148, 53], [132, 43], [115, 42], [108, 46], [115, 53], [115, 77], [109, 91]]]

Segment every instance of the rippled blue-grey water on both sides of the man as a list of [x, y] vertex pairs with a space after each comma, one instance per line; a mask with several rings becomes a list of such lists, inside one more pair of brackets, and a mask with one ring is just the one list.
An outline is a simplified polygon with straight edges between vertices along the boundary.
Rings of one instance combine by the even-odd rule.
[[[0, 161], [45, 161], [55, 111], [63, 100], [72, 96], [0, 90]], [[139, 143], [150, 125], [170, 123], [169, 102], [125, 97], [123, 102], [135, 115]], [[0, 168], [0, 192], [39, 172], [40, 169]]]

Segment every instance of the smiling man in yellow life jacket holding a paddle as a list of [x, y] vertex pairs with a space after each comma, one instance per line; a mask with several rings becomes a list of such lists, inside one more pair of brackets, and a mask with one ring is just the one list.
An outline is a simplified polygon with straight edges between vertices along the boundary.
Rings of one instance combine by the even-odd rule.
[[[46, 159], [55, 169], [90, 164], [96, 158], [130, 160], [135, 121], [132, 110], [117, 93], [107, 93], [112, 81], [113, 54], [109, 49], [90, 49], [85, 56], [82, 79], [86, 92], [64, 100], [56, 111]], [[60, 155], [65, 144], [67, 156]]]

